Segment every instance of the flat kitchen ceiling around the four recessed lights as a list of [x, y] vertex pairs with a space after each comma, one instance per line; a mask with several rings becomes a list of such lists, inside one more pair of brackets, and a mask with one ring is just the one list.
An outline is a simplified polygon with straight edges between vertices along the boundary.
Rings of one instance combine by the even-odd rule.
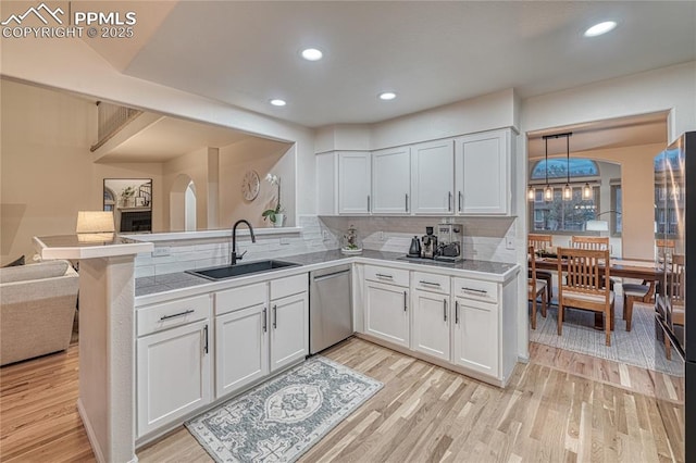
[[[693, 1], [119, 5], [137, 12], [134, 41], [85, 39], [115, 68], [309, 127], [374, 123], [506, 88], [529, 98], [696, 60]], [[618, 27], [583, 37], [605, 20]], [[308, 46], [324, 59], [302, 60]], [[378, 100], [383, 90], [397, 99]]]

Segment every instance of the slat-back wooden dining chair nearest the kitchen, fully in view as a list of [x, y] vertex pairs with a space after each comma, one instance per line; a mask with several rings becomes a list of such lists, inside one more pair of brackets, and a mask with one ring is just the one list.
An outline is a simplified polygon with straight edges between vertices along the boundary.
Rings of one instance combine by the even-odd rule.
[[611, 346], [613, 291], [609, 280], [609, 250], [577, 248], [558, 249], [558, 275], [566, 273], [566, 281], [558, 284], [558, 335], [563, 329], [563, 311], [575, 308], [600, 312], [605, 316], [607, 346]]

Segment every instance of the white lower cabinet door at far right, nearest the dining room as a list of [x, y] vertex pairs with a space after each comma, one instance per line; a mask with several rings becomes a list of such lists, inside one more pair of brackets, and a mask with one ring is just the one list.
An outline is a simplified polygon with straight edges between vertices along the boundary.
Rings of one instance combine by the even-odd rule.
[[455, 363], [498, 377], [498, 305], [455, 298]]

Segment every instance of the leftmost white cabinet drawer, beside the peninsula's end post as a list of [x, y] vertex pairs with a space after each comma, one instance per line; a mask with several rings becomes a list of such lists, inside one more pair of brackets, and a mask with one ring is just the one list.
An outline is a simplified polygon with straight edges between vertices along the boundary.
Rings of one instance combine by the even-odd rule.
[[186, 325], [208, 316], [210, 316], [210, 296], [208, 295], [138, 309], [138, 337]]

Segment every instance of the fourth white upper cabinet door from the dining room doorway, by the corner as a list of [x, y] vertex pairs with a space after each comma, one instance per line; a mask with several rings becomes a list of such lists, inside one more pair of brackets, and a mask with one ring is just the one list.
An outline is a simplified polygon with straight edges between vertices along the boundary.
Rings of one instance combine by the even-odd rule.
[[368, 214], [372, 208], [371, 184], [369, 152], [338, 153], [339, 214]]

